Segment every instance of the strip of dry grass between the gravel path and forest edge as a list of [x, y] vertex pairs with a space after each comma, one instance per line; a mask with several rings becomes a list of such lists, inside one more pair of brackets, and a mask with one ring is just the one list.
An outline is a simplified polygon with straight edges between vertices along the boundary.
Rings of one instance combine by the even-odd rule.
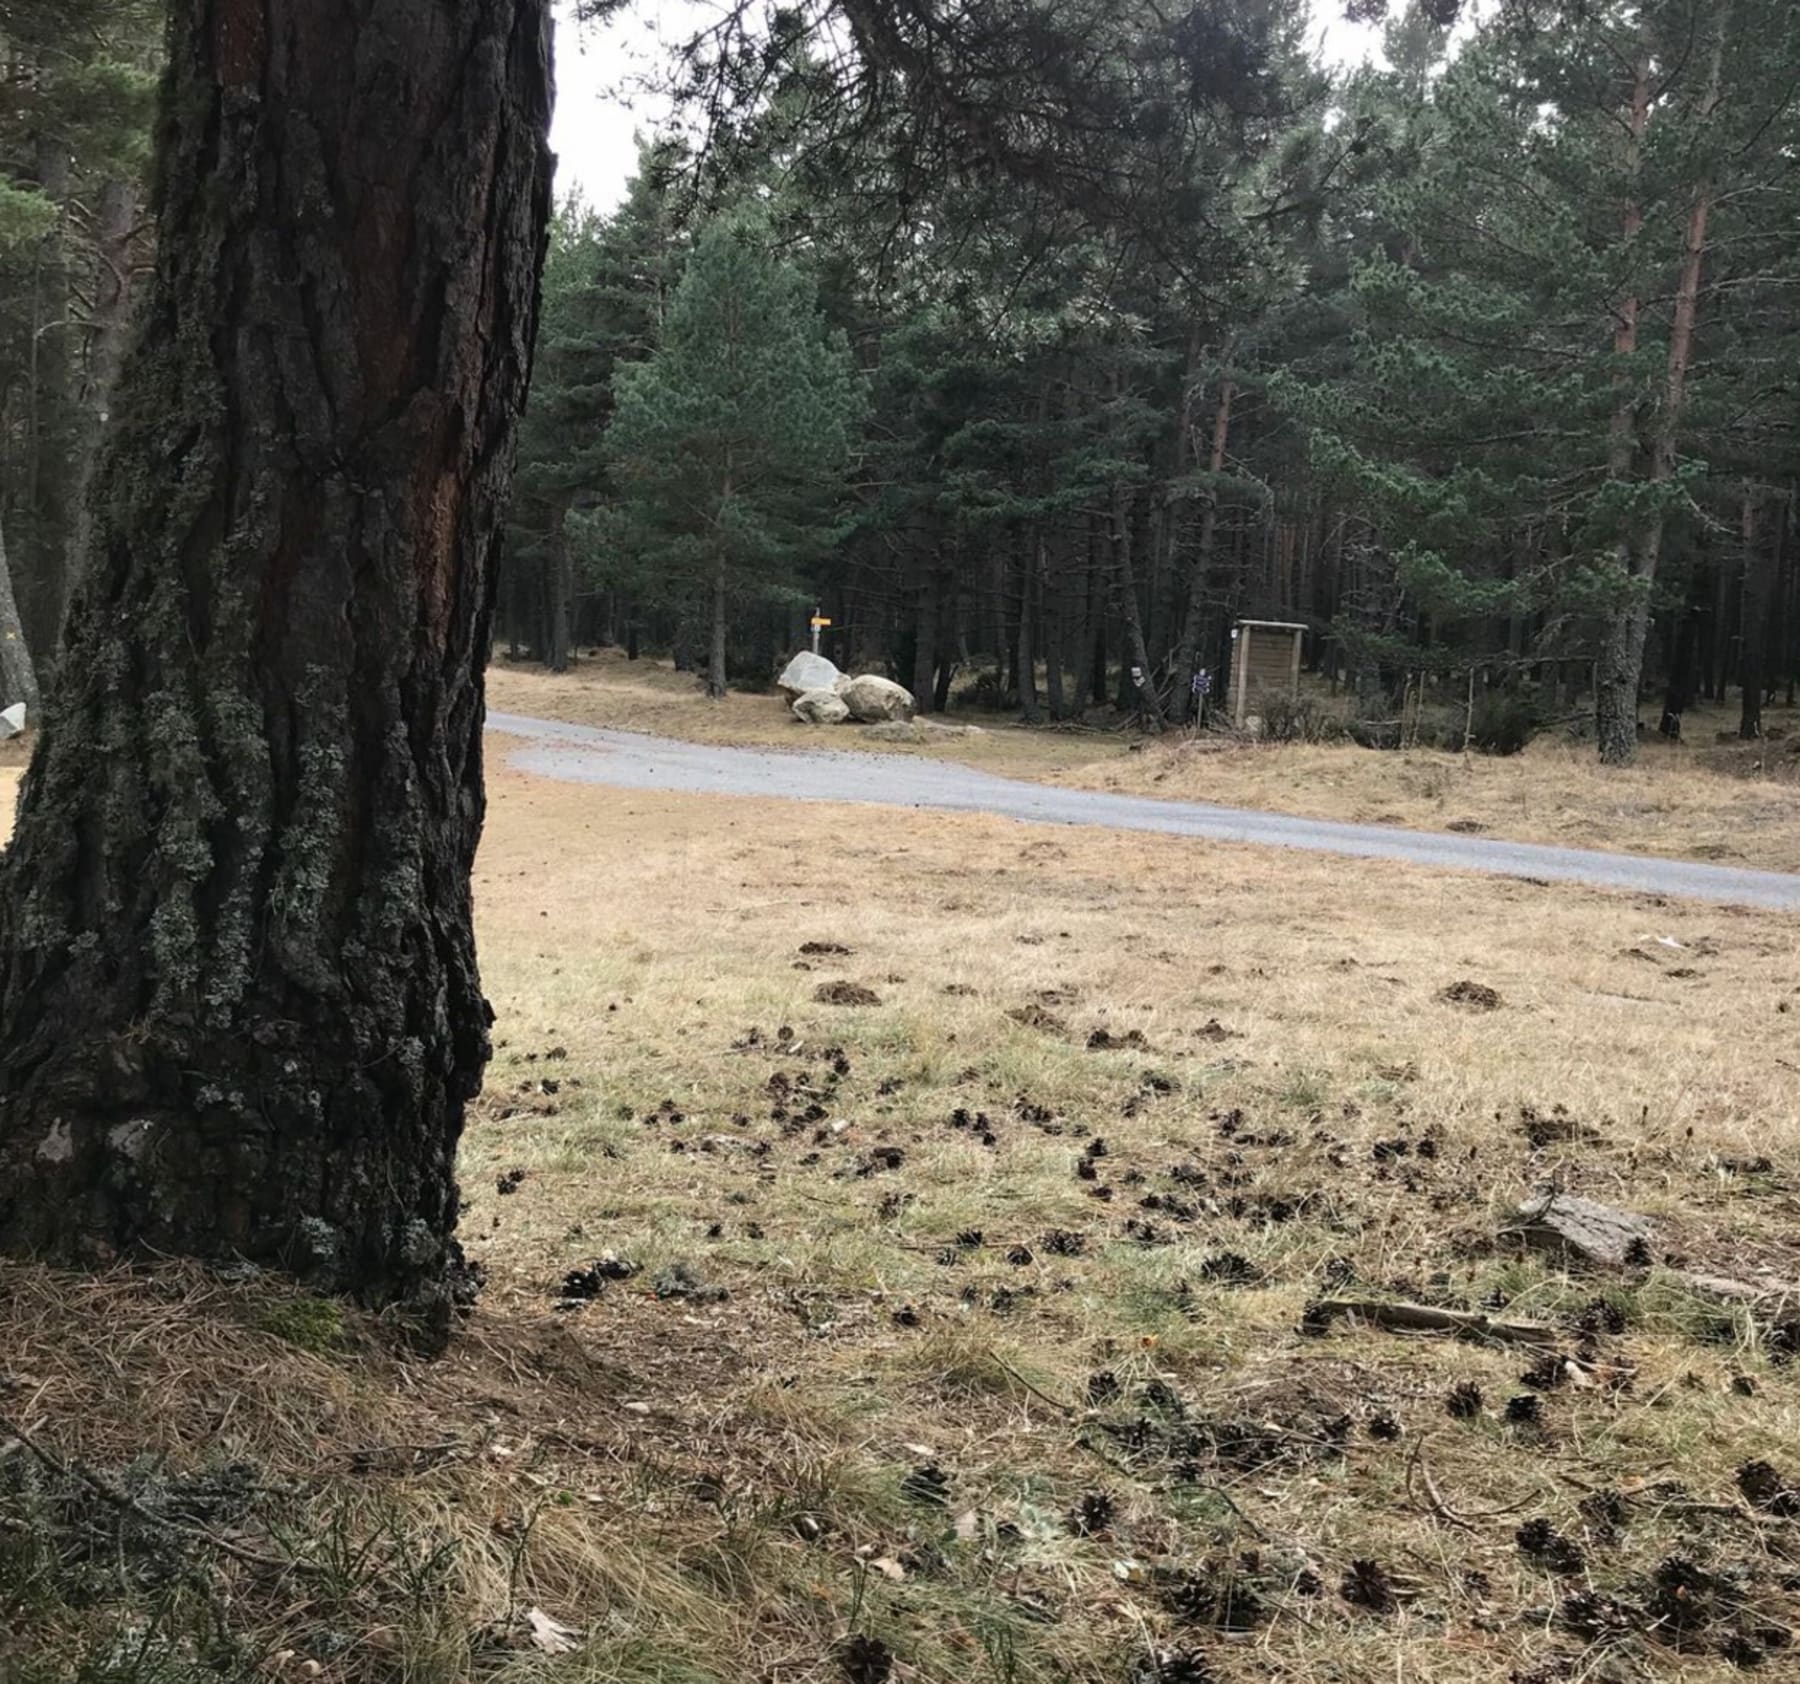
[[1604, 770], [1591, 745], [1555, 736], [1501, 759], [1210, 736], [1132, 741], [1118, 730], [1022, 730], [992, 714], [949, 716], [983, 727], [981, 736], [871, 743], [853, 729], [799, 725], [774, 694], [707, 702], [689, 675], [610, 651], [562, 676], [495, 667], [490, 700], [509, 712], [691, 741], [929, 754], [1127, 795], [1800, 871], [1800, 716], [1782, 707], [1769, 709], [1764, 743], [1717, 741], [1735, 716], [1696, 709], [1688, 743], [1654, 738], [1636, 766]]

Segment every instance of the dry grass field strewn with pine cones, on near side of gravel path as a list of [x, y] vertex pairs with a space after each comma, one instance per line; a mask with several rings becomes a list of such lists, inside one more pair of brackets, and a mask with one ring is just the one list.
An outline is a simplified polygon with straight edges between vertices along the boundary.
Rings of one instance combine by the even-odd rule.
[[[1800, 1279], [1800, 921], [495, 747], [452, 1353], [0, 1270], [0, 1411], [187, 1527], [85, 1677], [1793, 1677], [1800, 1322], [1681, 1270]], [[1654, 1243], [1528, 1250], [1544, 1186]], [[126, 1641], [59, 1500], [9, 1680]]]

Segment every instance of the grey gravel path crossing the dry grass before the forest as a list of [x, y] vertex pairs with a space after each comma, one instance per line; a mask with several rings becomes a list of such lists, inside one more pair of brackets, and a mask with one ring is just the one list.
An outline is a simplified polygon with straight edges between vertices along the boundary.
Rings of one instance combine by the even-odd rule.
[[1309, 853], [1364, 860], [1402, 860], [1409, 865], [1438, 865], [1451, 871], [1800, 910], [1800, 876], [1780, 871], [1742, 871], [1733, 865], [1697, 865], [1687, 860], [1546, 847], [1535, 842], [1494, 842], [1485, 837], [1408, 831], [1382, 824], [1336, 824], [1325, 819], [1294, 819], [1287, 813], [1206, 806], [1197, 801], [1152, 801], [1141, 795], [1107, 795], [1098, 790], [1060, 790], [1053, 784], [995, 777], [954, 761], [904, 754], [720, 748], [504, 712], [490, 712], [488, 729], [522, 739], [509, 759], [524, 772], [621, 790], [851, 801], [945, 813], [992, 813], [1030, 824], [1165, 831], [1174, 837], [1204, 837], [1211, 842], [1303, 847]]

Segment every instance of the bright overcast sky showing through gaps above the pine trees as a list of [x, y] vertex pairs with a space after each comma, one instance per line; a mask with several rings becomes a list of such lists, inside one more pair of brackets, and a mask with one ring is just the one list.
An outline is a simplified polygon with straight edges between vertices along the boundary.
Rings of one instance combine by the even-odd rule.
[[[558, 0], [558, 18], [571, 11]], [[563, 22], [556, 32], [556, 148], [558, 198], [580, 187], [598, 210], [610, 210], [623, 196], [637, 164], [632, 137], [657, 126], [661, 101], [630, 85], [662, 61], [668, 45], [693, 34], [718, 13], [709, 0], [634, 0], [605, 27], [578, 29]], [[1343, 0], [1312, 0], [1312, 13], [1325, 54], [1332, 63], [1354, 65], [1368, 56], [1379, 31], [1346, 23]]]

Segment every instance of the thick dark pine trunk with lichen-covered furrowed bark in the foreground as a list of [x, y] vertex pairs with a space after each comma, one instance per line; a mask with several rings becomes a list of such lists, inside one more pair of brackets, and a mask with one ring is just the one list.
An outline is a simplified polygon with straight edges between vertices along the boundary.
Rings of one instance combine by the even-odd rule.
[[545, 0], [176, 0], [160, 241], [0, 860], [0, 1247], [448, 1324]]

